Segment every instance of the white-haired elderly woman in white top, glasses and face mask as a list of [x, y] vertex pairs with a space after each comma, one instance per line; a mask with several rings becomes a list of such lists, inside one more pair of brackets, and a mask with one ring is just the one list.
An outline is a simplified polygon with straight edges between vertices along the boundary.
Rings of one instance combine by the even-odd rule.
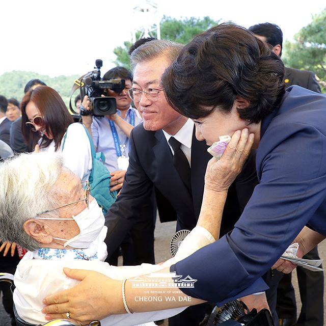
[[[0, 165], [0, 239], [29, 250], [14, 276], [14, 304], [24, 322], [45, 323], [43, 298], [79, 282], [66, 277], [64, 267], [96, 270], [125, 280], [168, 267], [218, 238], [221, 221], [209, 221], [205, 216], [170, 260], [160, 265], [111, 266], [103, 262], [107, 254], [104, 216], [85, 183], [65, 168], [62, 157], [55, 153], [20, 154]], [[112, 295], [124, 300], [128, 312], [123, 290]], [[183, 309], [112, 315], [101, 323], [143, 324]], [[69, 312], [63, 317], [74, 318]]]

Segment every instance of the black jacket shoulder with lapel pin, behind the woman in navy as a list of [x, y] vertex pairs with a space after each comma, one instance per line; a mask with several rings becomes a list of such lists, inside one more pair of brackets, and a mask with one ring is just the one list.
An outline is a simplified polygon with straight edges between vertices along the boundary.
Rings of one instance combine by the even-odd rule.
[[308, 90], [321, 93], [316, 76], [312, 71], [285, 67], [284, 82], [286, 87], [298, 85]]

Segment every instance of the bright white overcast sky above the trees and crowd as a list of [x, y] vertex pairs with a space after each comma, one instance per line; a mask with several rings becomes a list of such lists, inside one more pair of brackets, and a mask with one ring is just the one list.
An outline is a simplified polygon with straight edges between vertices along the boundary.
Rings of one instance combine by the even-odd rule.
[[[103, 60], [102, 74], [112, 68], [113, 49], [131, 40], [137, 25], [132, 8], [142, 1], [124, 0], [0, 0], [0, 75], [26, 70], [58, 76], [83, 75]], [[284, 39], [311, 21], [326, 3], [313, 0], [273, 2], [256, 0], [157, 0], [159, 15], [232, 20], [246, 28], [274, 22]], [[212, 5], [213, 4], [213, 5]]]

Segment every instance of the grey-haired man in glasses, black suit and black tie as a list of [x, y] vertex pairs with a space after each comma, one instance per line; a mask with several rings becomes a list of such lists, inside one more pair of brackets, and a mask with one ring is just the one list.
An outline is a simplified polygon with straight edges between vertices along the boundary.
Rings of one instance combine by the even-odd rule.
[[[122, 191], [105, 216], [109, 256], [135, 225], [137, 232], [133, 230], [132, 235], [138, 254], [144, 261], [150, 256], [154, 230], [153, 188], [162, 222], [172, 221], [176, 216], [177, 230], [191, 230], [196, 225], [206, 165], [211, 155], [205, 142], [196, 139], [193, 121], [173, 110], [160, 84], [162, 73], [177, 58], [182, 47], [166, 40], [153, 40], [132, 52], [133, 85], [129, 94], [144, 122], [131, 132], [129, 167]], [[188, 180], [174, 165], [174, 155], [180, 152], [170, 145], [172, 136], [181, 143], [186, 164], [191, 167]], [[252, 154], [229, 189], [221, 235], [233, 229], [257, 184], [254, 163]], [[169, 322], [170, 325], [198, 326], [204, 314], [204, 306], [191, 307], [170, 318]]]

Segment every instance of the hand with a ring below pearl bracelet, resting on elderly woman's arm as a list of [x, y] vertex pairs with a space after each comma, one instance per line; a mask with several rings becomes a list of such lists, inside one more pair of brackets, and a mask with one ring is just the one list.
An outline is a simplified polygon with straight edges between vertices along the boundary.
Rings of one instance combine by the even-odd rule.
[[[112, 280], [92, 270], [64, 268], [64, 273], [75, 280], [78, 285], [47, 296], [42, 312], [46, 320], [70, 318], [78, 325], [89, 324], [93, 320], [101, 320], [112, 313], [121, 313], [122, 282]], [[122, 305], [123, 307], [123, 305]]]

